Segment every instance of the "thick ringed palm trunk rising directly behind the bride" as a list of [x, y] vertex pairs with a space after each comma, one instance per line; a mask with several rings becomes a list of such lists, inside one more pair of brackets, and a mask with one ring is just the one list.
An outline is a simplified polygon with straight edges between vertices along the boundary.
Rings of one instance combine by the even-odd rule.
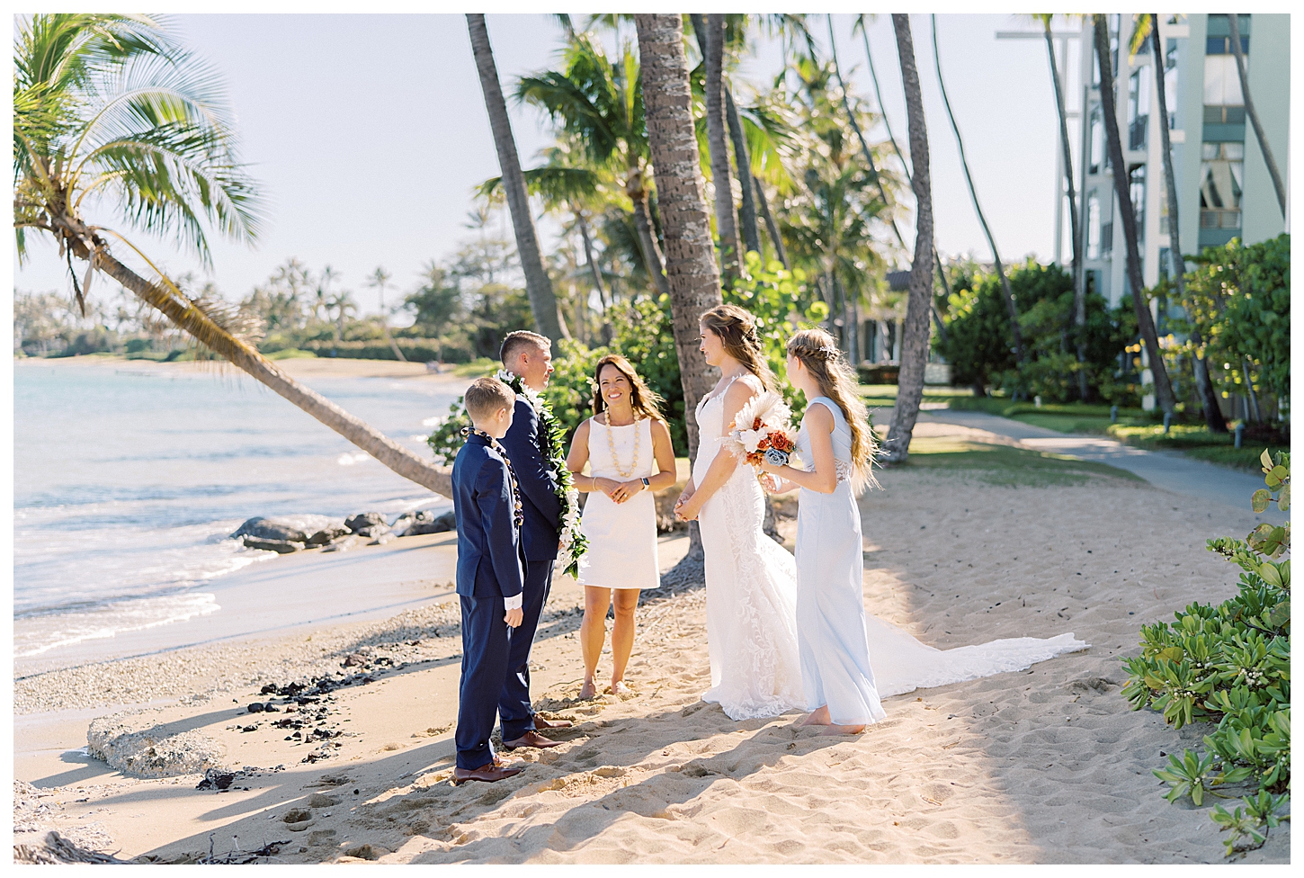
[[[702, 356], [698, 324], [721, 304], [720, 273], [711, 244], [711, 220], [703, 196], [702, 158], [692, 127], [692, 86], [683, 53], [679, 14], [636, 14], [643, 72], [643, 107], [648, 147], [656, 174], [657, 206], [665, 237], [666, 280], [674, 347], [689, 432], [689, 457], [698, 454], [698, 423], [687, 412], [711, 391], [716, 376]], [[702, 582], [702, 534], [689, 528], [689, 554], [662, 577], [662, 583]]]

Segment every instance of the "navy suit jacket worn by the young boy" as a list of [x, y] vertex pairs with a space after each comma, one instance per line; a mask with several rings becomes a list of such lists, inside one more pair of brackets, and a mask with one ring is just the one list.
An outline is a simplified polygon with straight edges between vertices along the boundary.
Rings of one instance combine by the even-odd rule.
[[458, 594], [515, 598], [526, 582], [511, 475], [488, 440], [472, 433], [452, 461]]

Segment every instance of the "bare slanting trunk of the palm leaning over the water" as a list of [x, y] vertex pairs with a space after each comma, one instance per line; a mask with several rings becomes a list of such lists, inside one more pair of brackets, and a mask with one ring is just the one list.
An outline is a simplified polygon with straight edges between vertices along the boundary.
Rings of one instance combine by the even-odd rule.
[[[83, 240], [90, 240], [87, 231]], [[90, 253], [86, 253], [90, 257]], [[83, 258], [86, 258], [83, 257]], [[163, 312], [180, 330], [202, 342], [239, 369], [249, 373], [333, 431], [363, 449], [404, 479], [445, 497], [452, 496], [452, 470], [437, 467], [403, 447], [365, 421], [305, 387], [278, 369], [250, 344], [236, 338], [192, 303], [160, 284], [150, 283], [110, 256], [103, 247], [95, 252], [95, 265], [141, 300]]]

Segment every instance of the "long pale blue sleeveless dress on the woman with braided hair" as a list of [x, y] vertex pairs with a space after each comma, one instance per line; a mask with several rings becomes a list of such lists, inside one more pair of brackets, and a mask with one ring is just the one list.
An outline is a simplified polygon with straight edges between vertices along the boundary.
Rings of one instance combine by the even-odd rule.
[[[837, 725], [876, 723], [887, 714], [870, 667], [866, 634], [861, 510], [852, 494], [852, 429], [828, 397], [815, 397], [833, 414], [837, 489], [801, 489], [797, 513], [797, 650], [807, 710], [828, 704]], [[797, 447], [812, 468], [805, 421]]]

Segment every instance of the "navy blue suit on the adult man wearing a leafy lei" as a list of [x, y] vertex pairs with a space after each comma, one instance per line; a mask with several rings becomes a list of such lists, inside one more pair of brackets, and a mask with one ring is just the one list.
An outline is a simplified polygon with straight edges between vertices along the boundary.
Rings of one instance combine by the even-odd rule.
[[502, 740], [515, 741], [535, 728], [529, 706], [529, 647], [535, 642], [539, 616], [544, 612], [553, 583], [553, 564], [557, 561], [562, 504], [557, 497], [557, 483], [549, 470], [548, 444], [541, 434], [544, 425], [535, 408], [516, 397], [511, 427], [501, 442], [511, 458], [511, 467], [520, 483], [520, 498], [526, 523], [522, 543], [526, 552], [526, 584], [522, 599], [520, 628], [511, 633], [511, 655], [507, 659], [507, 677], [498, 699], [502, 720]]

